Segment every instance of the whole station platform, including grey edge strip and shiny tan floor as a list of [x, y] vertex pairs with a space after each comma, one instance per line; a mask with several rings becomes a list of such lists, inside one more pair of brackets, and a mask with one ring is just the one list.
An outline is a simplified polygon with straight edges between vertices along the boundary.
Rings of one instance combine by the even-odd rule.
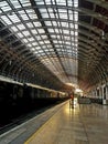
[[0, 136], [0, 144], [108, 144], [108, 106], [69, 109], [67, 101]]

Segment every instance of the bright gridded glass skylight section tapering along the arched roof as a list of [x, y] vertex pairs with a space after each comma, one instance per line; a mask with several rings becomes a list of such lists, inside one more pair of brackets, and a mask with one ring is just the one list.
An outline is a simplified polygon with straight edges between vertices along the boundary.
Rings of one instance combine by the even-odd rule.
[[78, 13], [71, 7], [77, 8], [78, 0], [34, 0], [34, 6], [30, 0], [0, 1], [1, 22], [63, 82], [67, 75], [77, 75], [73, 63], [77, 61]]

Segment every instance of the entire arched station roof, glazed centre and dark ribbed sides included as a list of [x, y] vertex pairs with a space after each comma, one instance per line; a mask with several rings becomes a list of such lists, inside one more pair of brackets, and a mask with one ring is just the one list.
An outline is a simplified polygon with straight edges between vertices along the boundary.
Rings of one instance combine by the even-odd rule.
[[0, 74], [87, 89], [107, 81], [107, 0], [2, 0]]

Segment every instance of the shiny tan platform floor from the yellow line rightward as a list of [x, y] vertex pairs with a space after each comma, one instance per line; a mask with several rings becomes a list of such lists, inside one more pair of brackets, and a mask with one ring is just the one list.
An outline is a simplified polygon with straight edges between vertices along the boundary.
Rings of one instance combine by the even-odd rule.
[[108, 144], [108, 106], [66, 103], [24, 144]]

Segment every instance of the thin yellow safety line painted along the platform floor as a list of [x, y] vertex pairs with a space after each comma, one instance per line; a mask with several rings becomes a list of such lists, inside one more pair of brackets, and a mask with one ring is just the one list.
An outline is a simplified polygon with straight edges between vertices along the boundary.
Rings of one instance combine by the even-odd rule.
[[[63, 106], [62, 106], [63, 107]], [[62, 109], [61, 107], [61, 109]], [[60, 110], [61, 110], [60, 109]], [[58, 111], [57, 111], [58, 112]], [[47, 121], [46, 121], [46, 123], [44, 123], [26, 142], [24, 142], [24, 144], [29, 144], [35, 136], [36, 136], [36, 134], [37, 133], [40, 133], [40, 131], [42, 131], [44, 127], [45, 127], [45, 125], [47, 125], [47, 123], [50, 123], [50, 121], [57, 114], [57, 112], [52, 116], [52, 117], [50, 117]]]

